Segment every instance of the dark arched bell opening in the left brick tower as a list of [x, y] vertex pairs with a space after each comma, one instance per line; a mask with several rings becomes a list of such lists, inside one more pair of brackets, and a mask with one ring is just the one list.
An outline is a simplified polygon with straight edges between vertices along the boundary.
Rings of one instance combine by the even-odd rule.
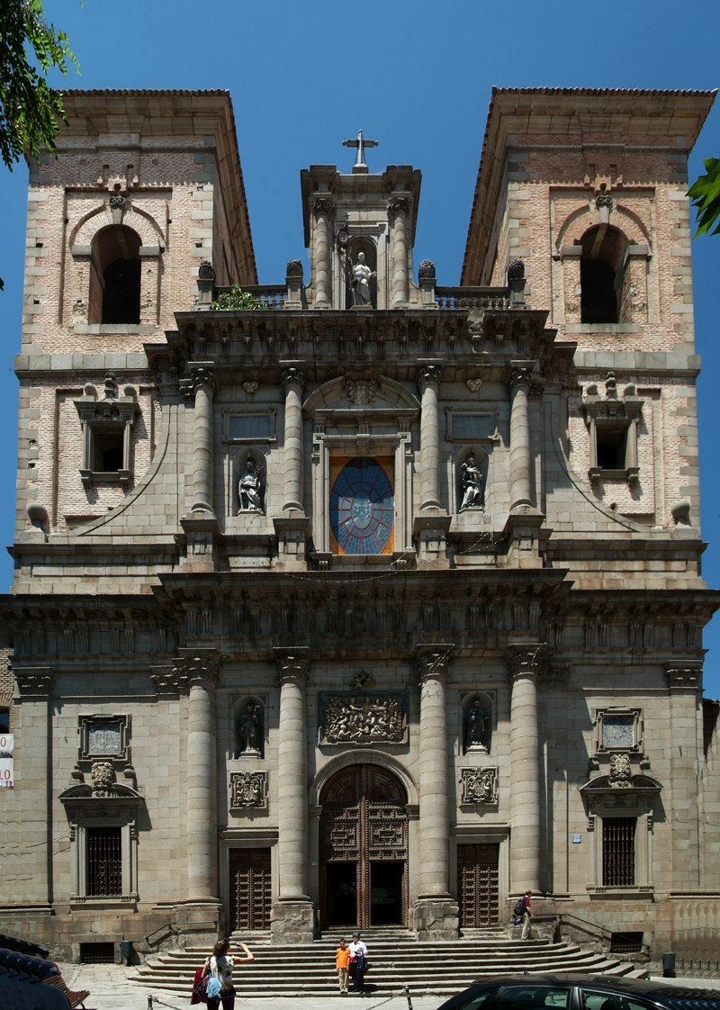
[[139, 323], [141, 244], [137, 232], [123, 224], [109, 224], [94, 236], [90, 322]]

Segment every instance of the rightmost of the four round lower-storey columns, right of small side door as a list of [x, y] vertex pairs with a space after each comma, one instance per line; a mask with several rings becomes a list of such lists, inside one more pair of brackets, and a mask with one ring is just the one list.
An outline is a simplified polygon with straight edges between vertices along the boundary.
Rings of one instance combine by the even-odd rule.
[[540, 884], [540, 768], [537, 675], [542, 645], [511, 645], [507, 652], [510, 700], [510, 888], [537, 891]]

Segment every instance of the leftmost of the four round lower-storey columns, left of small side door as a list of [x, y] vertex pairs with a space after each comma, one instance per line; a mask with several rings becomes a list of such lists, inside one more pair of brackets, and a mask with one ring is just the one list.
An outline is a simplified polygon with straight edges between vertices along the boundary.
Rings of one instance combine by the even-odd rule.
[[219, 671], [219, 658], [212, 652], [187, 655], [173, 671], [178, 689], [190, 690], [186, 802], [187, 900], [191, 902], [218, 900], [215, 685]]

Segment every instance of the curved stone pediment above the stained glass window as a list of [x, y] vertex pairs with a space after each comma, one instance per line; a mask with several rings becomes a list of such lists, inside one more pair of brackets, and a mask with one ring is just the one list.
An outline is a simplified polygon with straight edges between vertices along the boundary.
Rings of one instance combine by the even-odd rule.
[[337, 376], [323, 383], [305, 401], [303, 412], [309, 419], [348, 419], [369, 414], [392, 414], [412, 421], [420, 411], [420, 401], [404, 386], [387, 376]]

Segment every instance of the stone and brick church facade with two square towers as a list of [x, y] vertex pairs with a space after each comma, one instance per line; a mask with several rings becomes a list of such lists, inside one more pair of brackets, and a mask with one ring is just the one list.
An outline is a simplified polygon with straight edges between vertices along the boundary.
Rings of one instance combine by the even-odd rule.
[[716, 944], [713, 99], [496, 90], [442, 287], [420, 170], [372, 141], [301, 170], [308, 258], [286, 235], [259, 285], [227, 93], [66, 94], [15, 359], [2, 931], [443, 939], [531, 889]]

